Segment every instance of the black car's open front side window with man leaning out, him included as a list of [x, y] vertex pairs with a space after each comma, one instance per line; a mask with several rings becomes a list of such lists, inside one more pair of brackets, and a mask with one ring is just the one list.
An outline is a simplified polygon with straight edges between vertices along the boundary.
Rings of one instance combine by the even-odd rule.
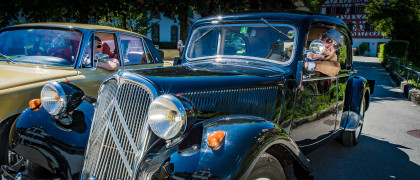
[[[322, 42], [324, 44], [323, 51], [309, 50], [312, 42], [312, 45], [317, 44], [316, 42]], [[346, 66], [346, 48], [346, 40], [338, 30], [312, 25], [306, 42], [305, 77], [336, 76], [341, 68]]]

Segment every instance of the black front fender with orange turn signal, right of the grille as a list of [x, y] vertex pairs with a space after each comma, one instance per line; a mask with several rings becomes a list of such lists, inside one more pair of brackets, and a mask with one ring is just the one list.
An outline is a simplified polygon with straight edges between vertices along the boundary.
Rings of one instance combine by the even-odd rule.
[[[212, 150], [207, 145], [207, 137], [214, 131], [226, 133], [220, 149]], [[198, 133], [189, 136], [198, 136]], [[311, 174], [308, 160], [287, 133], [276, 124], [255, 116], [224, 116], [204, 121], [202, 124], [201, 144], [195, 152], [183, 151], [188, 148], [180, 145], [178, 151], [169, 158], [172, 176], [188, 178], [198, 174], [221, 179], [246, 178], [259, 157], [268, 152], [279, 162], [297, 162]]]

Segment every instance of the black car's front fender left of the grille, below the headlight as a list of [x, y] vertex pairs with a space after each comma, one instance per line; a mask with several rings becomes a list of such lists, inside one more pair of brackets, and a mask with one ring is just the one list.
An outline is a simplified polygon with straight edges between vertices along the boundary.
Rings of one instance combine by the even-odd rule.
[[11, 133], [11, 149], [62, 179], [79, 179], [89, 138], [94, 106], [83, 101], [71, 113], [70, 125], [61, 124], [43, 107], [26, 109]]

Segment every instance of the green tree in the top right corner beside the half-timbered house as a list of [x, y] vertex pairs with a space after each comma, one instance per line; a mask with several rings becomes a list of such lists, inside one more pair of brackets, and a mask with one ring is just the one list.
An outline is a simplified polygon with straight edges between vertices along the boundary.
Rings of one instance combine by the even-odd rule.
[[409, 41], [408, 61], [420, 65], [420, 0], [380, 0], [367, 5], [367, 21], [392, 40]]

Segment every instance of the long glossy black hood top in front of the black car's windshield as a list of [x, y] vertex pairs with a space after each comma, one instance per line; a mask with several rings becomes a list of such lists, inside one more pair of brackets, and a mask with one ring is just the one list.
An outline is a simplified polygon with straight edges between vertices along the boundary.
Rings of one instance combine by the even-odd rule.
[[284, 80], [281, 75], [246, 74], [233, 69], [220, 71], [220, 68], [215, 71], [212, 68], [203, 69], [196, 66], [173, 66], [129, 72], [148, 79], [161, 94], [255, 87], [279, 84]]

